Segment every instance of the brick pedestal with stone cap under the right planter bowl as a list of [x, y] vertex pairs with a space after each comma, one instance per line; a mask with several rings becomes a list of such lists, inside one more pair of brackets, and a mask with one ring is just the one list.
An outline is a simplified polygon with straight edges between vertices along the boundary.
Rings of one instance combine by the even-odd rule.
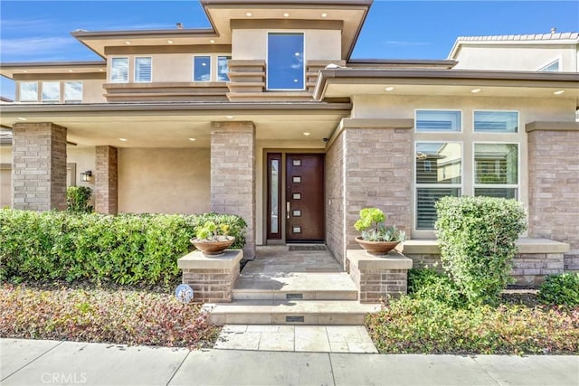
[[387, 297], [399, 298], [406, 294], [412, 259], [396, 251], [378, 258], [363, 249], [347, 249], [346, 259], [350, 265], [350, 278], [358, 287], [360, 303], [380, 303]]

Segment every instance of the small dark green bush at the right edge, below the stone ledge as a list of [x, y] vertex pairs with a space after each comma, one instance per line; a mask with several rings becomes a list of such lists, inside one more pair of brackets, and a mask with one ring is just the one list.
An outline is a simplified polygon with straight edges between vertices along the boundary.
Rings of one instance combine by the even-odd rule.
[[538, 297], [547, 304], [579, 306], [579, 272], [547, 276]]

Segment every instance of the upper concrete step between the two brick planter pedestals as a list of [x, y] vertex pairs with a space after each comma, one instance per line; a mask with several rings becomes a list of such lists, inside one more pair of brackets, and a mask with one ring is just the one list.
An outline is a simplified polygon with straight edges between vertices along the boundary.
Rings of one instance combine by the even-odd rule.
[[346, 272], [242, 274], [233, 288], [233, 300], [356, 299], [356, 285]]

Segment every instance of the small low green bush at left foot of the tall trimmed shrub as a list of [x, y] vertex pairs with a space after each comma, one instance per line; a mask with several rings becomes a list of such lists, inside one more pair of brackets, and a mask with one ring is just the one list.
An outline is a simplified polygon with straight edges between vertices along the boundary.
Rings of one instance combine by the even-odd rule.
[[429, 267], [408, 271], [408, 295], [413, 299], [435, 300], [453, 308], [466, 304], [448, 274]]

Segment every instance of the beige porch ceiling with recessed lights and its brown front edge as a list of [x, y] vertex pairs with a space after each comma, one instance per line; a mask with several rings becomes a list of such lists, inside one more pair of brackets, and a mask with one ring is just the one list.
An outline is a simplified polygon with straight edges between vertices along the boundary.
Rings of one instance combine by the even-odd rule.
[[[252, 121], [258, 140], [320, 140], [330, 137], [351, 106], [320, 109], [243, 108], [232, 110], [159, 110], [135, 106], [126, 110], [87, 106], [3, 106], [0, 124], [52, 122], [68, 128], [67, 139], [79, 146], [209, 147], [211, 122]], [[110, 107], [110, 106], [109, 106]], [[304, 132], [309, 132], [308, 137]], [[119, 138], [126, 138], [121, 141]], [[195, 141], [189, 140], [195, 138]]]

